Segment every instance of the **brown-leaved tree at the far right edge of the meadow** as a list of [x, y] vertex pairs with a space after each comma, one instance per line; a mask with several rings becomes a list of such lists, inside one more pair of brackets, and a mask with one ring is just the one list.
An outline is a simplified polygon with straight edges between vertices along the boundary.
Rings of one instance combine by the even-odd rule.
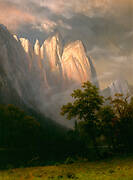
[[116, 145], [133, 150], [133, 97], [116, 94], [114, 98], [109, 98], [110, 105], [115, 114], [114, 128]]

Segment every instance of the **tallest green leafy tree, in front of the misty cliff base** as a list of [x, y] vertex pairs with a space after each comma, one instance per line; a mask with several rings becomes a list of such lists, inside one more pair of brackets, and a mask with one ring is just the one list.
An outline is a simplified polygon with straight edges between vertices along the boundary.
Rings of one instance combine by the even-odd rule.
[[61, 108], [61, 115], [66, 115], [67, 119], [76, 118], [78, 129], [81, 133], [87, 134], [92, 140], [96, 154], [99, 156], [96, 138], [99, 133], [98, 111], [103, 105], [103, 97], [99, 95], [98, 88], [89, 81], [83, 83], [82, 89], [74, 90], [73, 102]]

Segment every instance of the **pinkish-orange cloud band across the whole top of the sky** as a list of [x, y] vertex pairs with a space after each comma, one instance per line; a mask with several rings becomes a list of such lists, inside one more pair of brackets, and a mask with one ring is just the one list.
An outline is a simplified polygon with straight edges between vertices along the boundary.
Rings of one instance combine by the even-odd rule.
[[[117, 0], [117, 2], [115, 0], [0, 0], [0, 21], [10, 29], [15, 29], [19, 24], [28, 22], [37, 24], [43, 19], [50, 21], [54, 16], [71, 19], [75, 14], [88, 17], [103, 17], [111, 14], [119, 17], [123, 12], [126, 13], [130, 2], [133, 0], [126, 2], [125, 0]], [[46, 22], [44, 26], [45, 24], [46, 29], [48, 26], [51, 27], [51, 24]], [[68, 25], [65, 27], [68, 28]]]

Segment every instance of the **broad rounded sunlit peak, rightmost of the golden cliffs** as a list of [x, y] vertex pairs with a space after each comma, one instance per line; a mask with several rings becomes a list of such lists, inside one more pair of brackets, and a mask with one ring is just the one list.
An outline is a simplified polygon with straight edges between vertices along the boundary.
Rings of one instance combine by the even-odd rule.
[[82, 83], [91, 80], [91, 67], [81, 41], [68, 44], [62, 56], [63, 75], [67, 79]]

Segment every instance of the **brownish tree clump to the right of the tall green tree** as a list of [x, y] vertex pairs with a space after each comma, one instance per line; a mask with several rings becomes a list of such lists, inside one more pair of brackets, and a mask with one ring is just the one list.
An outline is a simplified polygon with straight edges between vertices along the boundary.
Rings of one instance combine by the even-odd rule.
[[133, 150], [133, 97], [116, 94], [99, 111], [101, 134], [114, 152]]

